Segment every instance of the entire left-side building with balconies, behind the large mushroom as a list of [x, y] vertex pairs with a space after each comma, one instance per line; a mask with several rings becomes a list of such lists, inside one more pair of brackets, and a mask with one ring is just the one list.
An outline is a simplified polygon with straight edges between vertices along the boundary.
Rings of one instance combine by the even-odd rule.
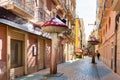
[[[0, 0], [0, 80], [11, 80], [49, 67], [51, 36], [42, 31], [41, 26], [57, 16], [67, 19], [72, 29], [73, 12], [74, 0]], [[69, 55], [68, 45], [74, 44], [71, 34], [67, 32], [69, 38], [63, 32], [65, 38], [59, 39], [57, 63], [64, 62]]]

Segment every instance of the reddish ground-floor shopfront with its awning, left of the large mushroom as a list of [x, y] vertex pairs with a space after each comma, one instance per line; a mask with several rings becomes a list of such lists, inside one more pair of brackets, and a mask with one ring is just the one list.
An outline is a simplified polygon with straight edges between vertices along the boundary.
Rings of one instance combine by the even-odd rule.
[[9, 80], [49, 67], [50, 35], [41, 32], [36, 26], [31, 27], [31, 29], [29, 27], [31, 31], [27, 31], [25, 26], [11, 24], [8, 20], [5, 20], [8, 23], [4, 23], [4, 19], [0, 21], [0, 64], [4, 62], [2, 65], [4, 69], [0, 68], [3, 71], [0, 74], [1, 80], [3, 76]]

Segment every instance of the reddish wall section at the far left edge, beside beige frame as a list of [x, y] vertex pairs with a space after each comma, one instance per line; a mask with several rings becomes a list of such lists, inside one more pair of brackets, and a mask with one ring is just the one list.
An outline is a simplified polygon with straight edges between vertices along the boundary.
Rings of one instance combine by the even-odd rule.
[[6, 80], [7, 28], [0, 24], [0, 80]]

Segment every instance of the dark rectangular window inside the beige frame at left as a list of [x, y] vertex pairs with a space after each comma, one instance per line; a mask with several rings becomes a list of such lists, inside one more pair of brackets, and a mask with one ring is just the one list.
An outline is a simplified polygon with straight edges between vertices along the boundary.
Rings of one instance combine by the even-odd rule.
[[11, 40], [11, 68], [22, 66], [22, 41]]

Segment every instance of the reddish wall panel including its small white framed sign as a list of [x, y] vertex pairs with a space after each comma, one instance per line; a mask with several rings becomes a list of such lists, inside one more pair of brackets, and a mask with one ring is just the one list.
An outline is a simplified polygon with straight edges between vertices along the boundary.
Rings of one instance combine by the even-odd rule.
[[37, 57], [38, 57], [38, 36], [28, 34], [27, 43], [27, 70], [28, 73], [37, 71]]

